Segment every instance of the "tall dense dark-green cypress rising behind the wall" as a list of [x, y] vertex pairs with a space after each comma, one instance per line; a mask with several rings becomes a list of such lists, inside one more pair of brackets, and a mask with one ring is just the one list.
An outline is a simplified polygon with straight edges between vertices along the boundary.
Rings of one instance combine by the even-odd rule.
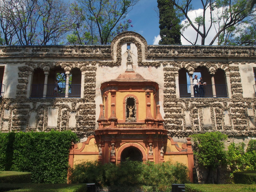
[[180, 19], [176, 17], [176, 13], [173, 9], [173, 4], [169, 0], [157, 0], [157, 7], [159, 9], [159, 28], [161, 40], [159, 44], [181, 45], [180, 41]]

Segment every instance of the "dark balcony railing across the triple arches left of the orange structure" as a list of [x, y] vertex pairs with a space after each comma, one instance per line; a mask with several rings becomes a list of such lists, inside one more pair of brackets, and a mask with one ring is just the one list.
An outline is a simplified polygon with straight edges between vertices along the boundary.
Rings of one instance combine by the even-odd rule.
[[[54, 89], [57, 89], [57, 93]], [[81, 97], [81, 84], [80, 85], [68, 85], [68, 97]], [[44, 96], [44, 85], [31, 85], [31, 97], [42, 98], [42, 97], [66, 97], [66, 85], [46, 85], [46, 95]]]

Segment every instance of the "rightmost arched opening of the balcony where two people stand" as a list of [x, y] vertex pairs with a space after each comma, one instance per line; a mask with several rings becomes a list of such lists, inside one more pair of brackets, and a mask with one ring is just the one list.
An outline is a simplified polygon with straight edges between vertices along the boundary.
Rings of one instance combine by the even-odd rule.
[[228, 96], [225, 76], [225, 72], [222, 69], [217, 69], [216, 73], [214, 74], [216, 97]]

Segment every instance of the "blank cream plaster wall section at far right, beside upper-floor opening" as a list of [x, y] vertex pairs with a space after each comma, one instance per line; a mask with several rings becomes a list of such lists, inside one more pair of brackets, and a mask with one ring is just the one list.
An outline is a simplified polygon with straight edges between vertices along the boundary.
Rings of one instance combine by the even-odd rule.
[[256, 68], [256, 64], [249, 63], [249, 64], [239, 64], [239, 72], [241, 76], [241, 83], [243, 88], [243, 96], [254, 98], [254, 89], [253, 85], [255, 84], [254, 74], [253, 74], [253, 67]]

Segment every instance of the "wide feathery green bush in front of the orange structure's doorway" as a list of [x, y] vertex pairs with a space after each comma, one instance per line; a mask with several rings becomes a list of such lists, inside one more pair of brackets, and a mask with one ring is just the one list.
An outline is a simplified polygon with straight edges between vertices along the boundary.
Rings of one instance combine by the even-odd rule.
[[180, 163], [165, 162], [155, 164], [147, 161], [125, 161], [121, 164], [84, 162], [71, 170], [72, 183], [96, 183], [100, 187], [109, 186], [116, 191], [131, 191], [140, 188], [144, 191], [171, 190], [172, 183], [188, 183], [188, 168]]

